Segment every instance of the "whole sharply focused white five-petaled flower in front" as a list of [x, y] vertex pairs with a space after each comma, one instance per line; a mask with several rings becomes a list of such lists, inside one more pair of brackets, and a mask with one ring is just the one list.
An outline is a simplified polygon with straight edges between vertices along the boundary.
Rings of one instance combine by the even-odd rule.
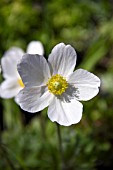
[[48, 117], [60, 125], [78, 123], [83, 105], [99, 92], [100, 79], [86, 70], [78, 69], [76, 52], [70, 45], [56, 45], [48, 58], [25, 54], [18, 71], [25, 84], [17, 95], [23, 110], [38, 112], [48, 107]]

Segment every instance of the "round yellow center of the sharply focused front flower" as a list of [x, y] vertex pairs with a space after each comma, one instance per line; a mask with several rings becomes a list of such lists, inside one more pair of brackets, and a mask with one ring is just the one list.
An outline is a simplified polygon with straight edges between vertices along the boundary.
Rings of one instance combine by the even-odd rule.
[[47, 86], [51, 93], [61, 95], [68, 88], [68, 83], [64, 77], [56, 74], [49, 79]]

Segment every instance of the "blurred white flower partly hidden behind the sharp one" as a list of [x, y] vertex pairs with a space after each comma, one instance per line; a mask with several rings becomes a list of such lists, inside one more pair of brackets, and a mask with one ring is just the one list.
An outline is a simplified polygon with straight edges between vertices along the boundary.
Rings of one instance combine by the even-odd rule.
[[[40, 42], [31, 41], [27, 47], [27, 53], [43, 55], [44, 49]], [[17, 71], [17, 64], [20, 62], [24, 51], [18, 47], [10, 48], [1, 59], [4, 81], [1, 84], [1, 97], [12, 98], [24, 87], [24, 84]]]

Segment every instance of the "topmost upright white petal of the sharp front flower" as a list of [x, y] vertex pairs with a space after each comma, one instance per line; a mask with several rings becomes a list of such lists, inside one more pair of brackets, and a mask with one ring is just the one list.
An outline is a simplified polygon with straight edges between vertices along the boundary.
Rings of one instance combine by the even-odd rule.
[[60, 43], [56, 45], [49, 55], [48, 62], [53, 74], [68, 76], [76, 65], [76, 52], [70, 45]]

